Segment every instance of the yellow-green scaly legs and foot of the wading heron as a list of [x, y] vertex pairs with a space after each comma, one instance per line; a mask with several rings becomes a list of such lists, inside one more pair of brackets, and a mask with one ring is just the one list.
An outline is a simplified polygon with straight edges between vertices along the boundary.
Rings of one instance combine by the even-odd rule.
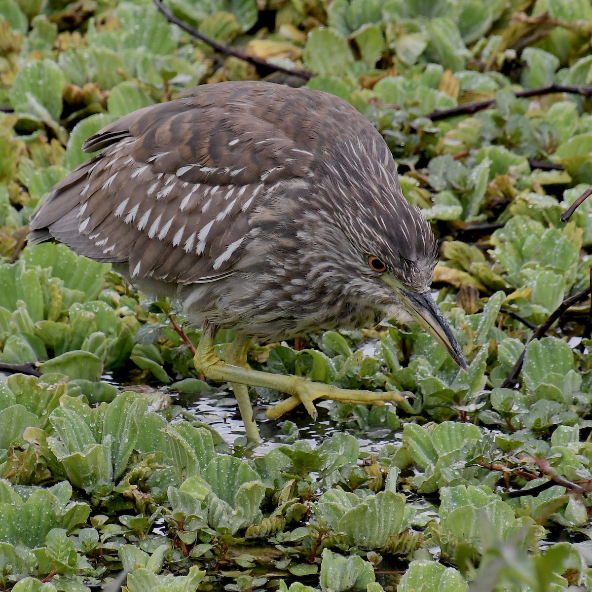
[[[284, 376], [279, 374], [270, 374], [246, 367], [246, 351], [249, 340], [244, 336], [237, 336], [227, 352], [230, 352], [229, 362], [223, 362], [214, 352], [214, 333], [215, 327], [205, 324], [204, 332], [195, 353], [193, 362], [195, 369], [202, 372], [206, 377], [218, 382], [232, 382], [238, 385], [253, 385], [259, 387], [273, 388], [276, 391], [287, 392], [292, 395], [285, 401], [277, 403], [268, 409], [266, 415], [269, 419], [277, 419], [282, 414], [297, 407], [302, 403], [313, 420], [317, 419], [317, 410], [314, 408], [313, 401], [323, 397], [340, 403], [350, 403], [354, 405], [378, 405], [382, 406], [386, 401], [400, 403], [404, 400], [404, 395], [400, 392], [371, 392], [354, 391], [344, 388], [337, 388], [330, 384], [321, 384], [320, 382], [311, 382], [306, 378], [295, 376]], [[234, 363], [230, 363], [232, 360]], [[239, 391], [240, 394], [239, 395]], [[234, 391], [239, 401], [240, 414], [243, 418], [245, 427], [247, 423], [250, 427], [251, 436], [247, 432], [247, 437], [254, 439], [256, 426], [253, 422], [253, 411], [246, 388]], [[240, 399], [239, 399], [240, 396]], [[244, 407], [244, 411], [243, 411]], [[259, 432], [256, 432], [259, 436]]]

